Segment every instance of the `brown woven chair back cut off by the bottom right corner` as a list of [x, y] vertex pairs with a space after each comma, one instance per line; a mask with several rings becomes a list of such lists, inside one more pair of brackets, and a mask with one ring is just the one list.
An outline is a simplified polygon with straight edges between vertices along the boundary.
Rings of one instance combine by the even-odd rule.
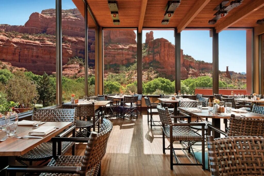
[[264, 138], [206, 136], [211, 175], [263, 175]]

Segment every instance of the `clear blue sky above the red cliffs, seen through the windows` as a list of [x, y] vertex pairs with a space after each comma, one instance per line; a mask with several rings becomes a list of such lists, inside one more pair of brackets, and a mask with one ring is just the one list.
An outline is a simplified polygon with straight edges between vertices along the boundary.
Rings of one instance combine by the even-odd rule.
[[[25, 6], [26, 4], [26, 6]], [[44, 9], [55, 8], [55, 0], [1, 0], [0, 24], [24, 25], [33, 12], [41, 13]], [[62, 9], [76, 8], [72, 0], [62, 0]], [[142, 41], [146, 32], [143, 30]], [[173, 30], [153, 30], [154, 39], [165, 38], [172, 44]], [[212, 63], [212, 38], [209, 31], [182, 31], [181, 49], [184, 54], [196, 60]], [[219, 70], [246, 72], [246, 31], [222, 31], [219, 33]]]

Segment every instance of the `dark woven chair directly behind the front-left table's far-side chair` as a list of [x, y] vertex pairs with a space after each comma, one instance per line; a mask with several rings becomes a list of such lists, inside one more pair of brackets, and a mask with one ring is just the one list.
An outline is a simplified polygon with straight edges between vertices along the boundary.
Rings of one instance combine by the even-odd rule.
[[[79, 136], [88, 137], [90, 133], [90, 129], [93, 128], [95, 131], [95, 125], [98, 124], [98, 132], [99, 132], [99, 123], [100, 116], [95, 117], [95, 104], [68, 104], [62, 103], [62, 108], [73, 109], [76, 108], [76, 117], [75, 117], [75, 127], [79, 129], [76, 131]], [[77, 120], [79, 117], [79, 120]], [[83, 117], [83, 120], [81, 118]], [[92, 119], [91, 119], [92, 118]]]

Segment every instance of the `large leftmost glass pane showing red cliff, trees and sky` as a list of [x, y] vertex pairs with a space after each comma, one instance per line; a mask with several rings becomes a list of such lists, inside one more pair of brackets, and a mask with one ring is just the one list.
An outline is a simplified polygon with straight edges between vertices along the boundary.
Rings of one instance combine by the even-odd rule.
[[55, 104], [55, 0], [0, 6], [0, 104], [16, 112]]

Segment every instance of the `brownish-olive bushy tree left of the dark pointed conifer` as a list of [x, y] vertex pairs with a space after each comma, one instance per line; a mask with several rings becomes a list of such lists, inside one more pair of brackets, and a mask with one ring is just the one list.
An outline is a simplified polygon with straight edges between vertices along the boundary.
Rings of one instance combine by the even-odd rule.
[[32, 107], [39, 97], [36, 85], [21, 71], [14, 73], [12, 79], [6, 83], [8, 100], [19, 102], [26, 107]]

